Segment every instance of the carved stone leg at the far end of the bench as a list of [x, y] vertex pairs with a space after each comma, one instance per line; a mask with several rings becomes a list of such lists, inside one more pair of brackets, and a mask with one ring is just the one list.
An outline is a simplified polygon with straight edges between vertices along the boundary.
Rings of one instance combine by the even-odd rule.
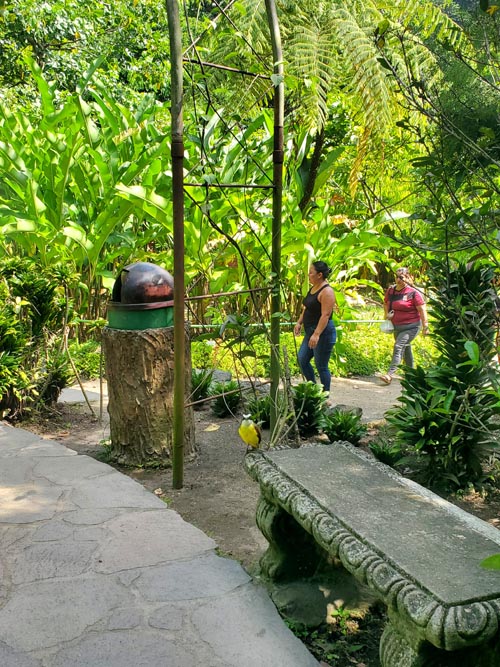
[[260, 559], [263, 577], [274, 581], [310, 577], [321, 562], [314, 539], [279, 505], [261, 495], [257, 526], [269, 542]]

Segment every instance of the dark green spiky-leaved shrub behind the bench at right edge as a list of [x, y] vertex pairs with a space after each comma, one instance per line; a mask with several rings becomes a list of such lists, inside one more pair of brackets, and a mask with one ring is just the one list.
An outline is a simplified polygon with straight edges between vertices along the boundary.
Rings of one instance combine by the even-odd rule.
[[421, 458], [424, 483], [458, 489], [481, 482], [482, 463], [498, 446], [493, 270], [434, 263], [432, 277], [440, 356], [428, 371], [406, 369], [401, 406], [388, 411], [387, 421], [397, 442]]

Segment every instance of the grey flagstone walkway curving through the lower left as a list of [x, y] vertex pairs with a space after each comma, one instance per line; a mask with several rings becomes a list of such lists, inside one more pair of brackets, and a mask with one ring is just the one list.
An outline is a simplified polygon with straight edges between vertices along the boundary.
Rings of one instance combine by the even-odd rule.
[[1, 667], [313, 667], [266, 592], [140, 484], [0, 424]]

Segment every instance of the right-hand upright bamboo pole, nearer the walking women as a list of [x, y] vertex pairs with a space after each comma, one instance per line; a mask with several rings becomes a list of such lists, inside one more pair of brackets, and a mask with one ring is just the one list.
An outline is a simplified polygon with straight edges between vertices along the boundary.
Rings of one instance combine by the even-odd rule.
[[281, 282], [281, 208], [283, 201], [283, 126], [285, 94], [283, 84], [283, 51], [274, 0], [266, 0], [267, 20], [273, 49], [274, 76], [274, 150], [273, 150], [273, 223], [272, 223], [272, 296], [271, 296], [271, 433], [278, 414], [280, 383], [280, 282]]

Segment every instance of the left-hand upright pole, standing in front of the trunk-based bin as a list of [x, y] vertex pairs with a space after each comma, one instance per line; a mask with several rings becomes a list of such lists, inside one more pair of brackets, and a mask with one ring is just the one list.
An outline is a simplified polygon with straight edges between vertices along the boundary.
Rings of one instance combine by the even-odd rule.
[[184, 142], [182, 39], [177, 0], [166, 0], [171, 62], [172, 197], [174, 216], [174, 415], [172, 486], [184, 480]]

